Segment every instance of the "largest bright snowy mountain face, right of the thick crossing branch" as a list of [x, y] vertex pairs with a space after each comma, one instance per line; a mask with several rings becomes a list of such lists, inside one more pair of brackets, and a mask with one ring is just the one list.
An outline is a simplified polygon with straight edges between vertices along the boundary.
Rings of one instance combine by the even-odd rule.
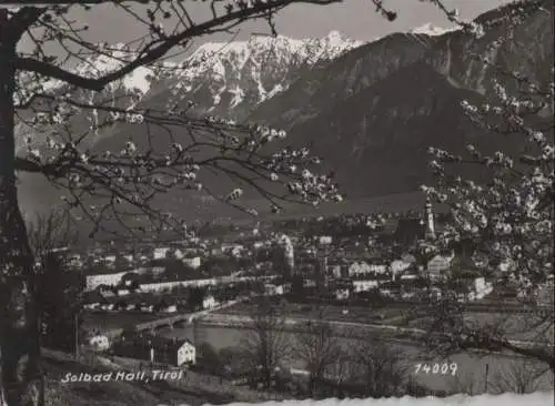
[[248, 41], [209, 42], [183, 62], [176, 87], [191, 92], [205, 111], [242, 115], [286, 90], [303, 68], [332, 61], [362, 44], [337, 31], [303, 40], [253, 34]]

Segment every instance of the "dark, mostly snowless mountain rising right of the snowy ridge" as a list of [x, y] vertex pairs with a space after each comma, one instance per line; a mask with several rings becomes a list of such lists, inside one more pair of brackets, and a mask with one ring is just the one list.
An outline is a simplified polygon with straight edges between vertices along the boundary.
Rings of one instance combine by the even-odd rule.
[[[507, 41], [492, 50], [505, 29], [500, 16], [511, 7], [488, 11], [492, 20], [478, 17], [486, 26], [478, 39], [452, 30], [438, 35], [395, 33], [364, 44], [316, 72], [317, 85], [310, 81], [314, 75], [299, 81], [259, 105], [251, 119], [287, 128], [292, 140], [311, 143], [336, 169], [347, 195], [355, 196], [410, 192], [430, 182], [428, 146], [464, 154], [462, 140], [472, 139], [487, 151], [516, 151], [518, 138], [500, 136], [494, 142], [481, 136], [460, 105], [465, 99], [481, 103], [495, 98], [492, 79], [497, 72], [492, 64], [507, 72], [521, 71], [538, 83], [551, 80], [552, 13], [536, 11], [519, 26], [515, 30], [519, 45]], [[487, 54], [491, 64], [478, 63], [472, 53]], [[408, 80], [412, 70], [422, 75]], [[511, 80], [507, 87], [509, 92], [515, 90]], [[428, 91], [436, 99], [435, 106], [430, 100], [417, 102]], [[384, 105], [387, 97], [390, 103]], [[412, 118], [404, 122], [406, 109]]]

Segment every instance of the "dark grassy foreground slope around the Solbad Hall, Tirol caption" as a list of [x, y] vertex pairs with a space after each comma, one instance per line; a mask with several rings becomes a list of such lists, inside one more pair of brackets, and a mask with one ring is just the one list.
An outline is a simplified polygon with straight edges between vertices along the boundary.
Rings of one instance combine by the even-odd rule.
[[[283, 399], [278, 394], [236, 387], [228, 380], [186, 371], [178, 380], [150, 382], [62, 382], [67, 374], [99, 374], [121, 371], [107, 358], [82, 356], [79, 361], [71, 355], [43, 351], [42, 368], [47, 373], [47, 406], [159, 406], [205, 404], [222, 405], [231, 402], [256, 403]], [[90, 354], [88, 354], [90, 355]], [[137, 372], [137, 361], [118, 358], [127, 372]], [[148, 374], [148, 372], [147, 372]], [[114, 375], [112, 375], [114, 376]]]

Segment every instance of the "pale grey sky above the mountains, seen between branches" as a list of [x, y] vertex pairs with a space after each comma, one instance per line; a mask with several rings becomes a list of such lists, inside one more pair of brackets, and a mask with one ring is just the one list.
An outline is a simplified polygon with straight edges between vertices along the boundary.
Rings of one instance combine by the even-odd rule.
[[[444, 0], [450, 8], [456, 8], [463, 19], [472, 19], [509, 0]], [[190, 1], [188, 10], [198, 21], [205, 19], [209, 2]], [[281, 34], [292, 38], [323, 37], [337, 30], [346, 37], [357, 40], [373, 40], [391, 32], [403, 32], [431, 22], [438, 27], [450, 27], [445, 16], [433, 4], [422, 0], [384, 0], [389, 9], [396, 10], [396, 21], [389, 22], [374, 10], [370, 0], [344, 0], [342, 3], [317, 7], [313, 4], [291, 6], [276, 17], [276, 27]], [[144, 33], [143, 26], [114, 11], [110, 6], [95, 6], [92, 11], [74, 12], [79, 20], [90, 24], [91, 39], [108, 42], [128, 42]], [[268, 24], [263, 21], [249, 22], [241, 26], [238, 39], [248, 39], [251, 33], [268, 33]], [[228, 35], [210, 35], [198, 43], [206, 41], [225, 41]]]

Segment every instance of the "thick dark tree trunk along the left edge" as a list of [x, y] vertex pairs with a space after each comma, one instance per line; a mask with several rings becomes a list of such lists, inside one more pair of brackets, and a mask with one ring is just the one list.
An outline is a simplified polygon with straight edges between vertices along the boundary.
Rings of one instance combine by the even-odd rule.
[[33, 255], [19, 210], [14, 172], [16, 44], [2, 42], [0, 14], [0, 396], [2, 406], [39, 406]]

